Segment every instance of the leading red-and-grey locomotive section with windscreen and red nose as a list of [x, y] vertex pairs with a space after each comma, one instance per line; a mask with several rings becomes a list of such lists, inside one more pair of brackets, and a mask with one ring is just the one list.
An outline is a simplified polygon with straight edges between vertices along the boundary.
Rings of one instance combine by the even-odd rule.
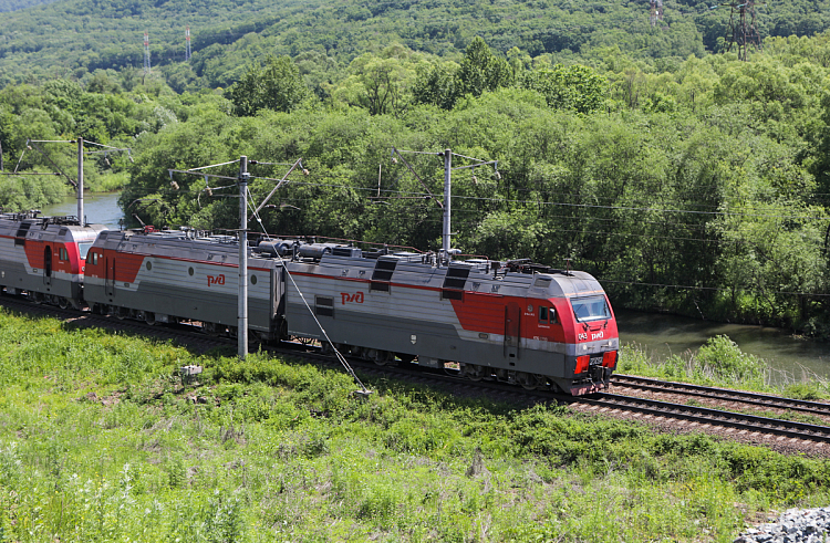
[[378, 364], [457, 365], [473, 380], [572, 395], [606, 387], [616, 366], [616, 321], [588, 273], [313, 247], [313, 257], [292, 254], [284, 264], [289, 335], [324, 342], [322, 325], [335, 347]]

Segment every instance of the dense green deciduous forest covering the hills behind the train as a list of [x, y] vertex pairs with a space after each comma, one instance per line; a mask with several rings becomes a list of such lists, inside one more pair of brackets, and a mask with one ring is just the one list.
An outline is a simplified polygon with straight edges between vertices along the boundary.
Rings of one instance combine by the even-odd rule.
[[[251, 166], [261, 201], [302, 158], [261, 230], [428, 250], [452, 148], [498, 160], [454, 174], [464, 253], [589, 271], [620, 307], [830, 335], [826, 2], [759, 6], [747, 62], [725, 52], [729, 7], [693, 1], [654, 27], [624, 1], [186, 3], [6, 13], [6, 171], [51, 171], [27, 138], [129, 147], [90, 159], [93, 189], [122, 185], [146, 223], [222, 229], [232, 181], [168, 169], [277, 163]], [[185, 24], [204, 25], [189, 62]], [[66, 190], [4, 176], [0, 203]]]

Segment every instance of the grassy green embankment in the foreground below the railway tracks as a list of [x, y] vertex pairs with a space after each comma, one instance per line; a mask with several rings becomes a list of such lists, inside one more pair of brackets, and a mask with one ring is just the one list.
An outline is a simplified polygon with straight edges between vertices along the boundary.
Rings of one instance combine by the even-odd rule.
[[830, 499], [824, 460], [4, 311], [0, 382], [0, 541], [732, 541]]

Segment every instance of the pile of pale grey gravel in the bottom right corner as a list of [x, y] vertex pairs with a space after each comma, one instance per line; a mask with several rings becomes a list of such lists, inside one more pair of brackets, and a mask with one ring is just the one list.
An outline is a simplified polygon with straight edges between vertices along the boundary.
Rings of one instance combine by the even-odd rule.
[[735, 543], [830, 542], [830, 508], [790, 509], [777, 523], [750, 528]]

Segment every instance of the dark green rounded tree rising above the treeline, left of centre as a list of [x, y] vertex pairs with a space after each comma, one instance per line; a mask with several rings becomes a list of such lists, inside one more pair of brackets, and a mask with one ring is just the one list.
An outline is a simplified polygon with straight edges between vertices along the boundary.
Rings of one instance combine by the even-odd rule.
[[288, 56], [269, 55], [264, 66], [251, 65], [228, 91], [237, 115], [251, 116], [260, 109], [291, 112], [309, 90], [297, 65]]

